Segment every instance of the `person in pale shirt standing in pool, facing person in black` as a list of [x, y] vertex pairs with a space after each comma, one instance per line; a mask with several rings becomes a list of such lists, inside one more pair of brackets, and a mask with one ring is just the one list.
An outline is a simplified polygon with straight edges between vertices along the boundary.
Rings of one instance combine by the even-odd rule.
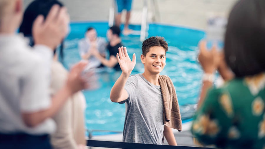
[[78, 43], [79, 53], [82, 59], [89, 60], [90, 67], [100, 67], [101, 62], [95, 58], [91, 51], [96, 50], [101, 57], [106, 57], [106, 41], [102, 37], [97, 37], [97, 31], [93, 27], [89, 27], [85, 33], [85, 38]]

